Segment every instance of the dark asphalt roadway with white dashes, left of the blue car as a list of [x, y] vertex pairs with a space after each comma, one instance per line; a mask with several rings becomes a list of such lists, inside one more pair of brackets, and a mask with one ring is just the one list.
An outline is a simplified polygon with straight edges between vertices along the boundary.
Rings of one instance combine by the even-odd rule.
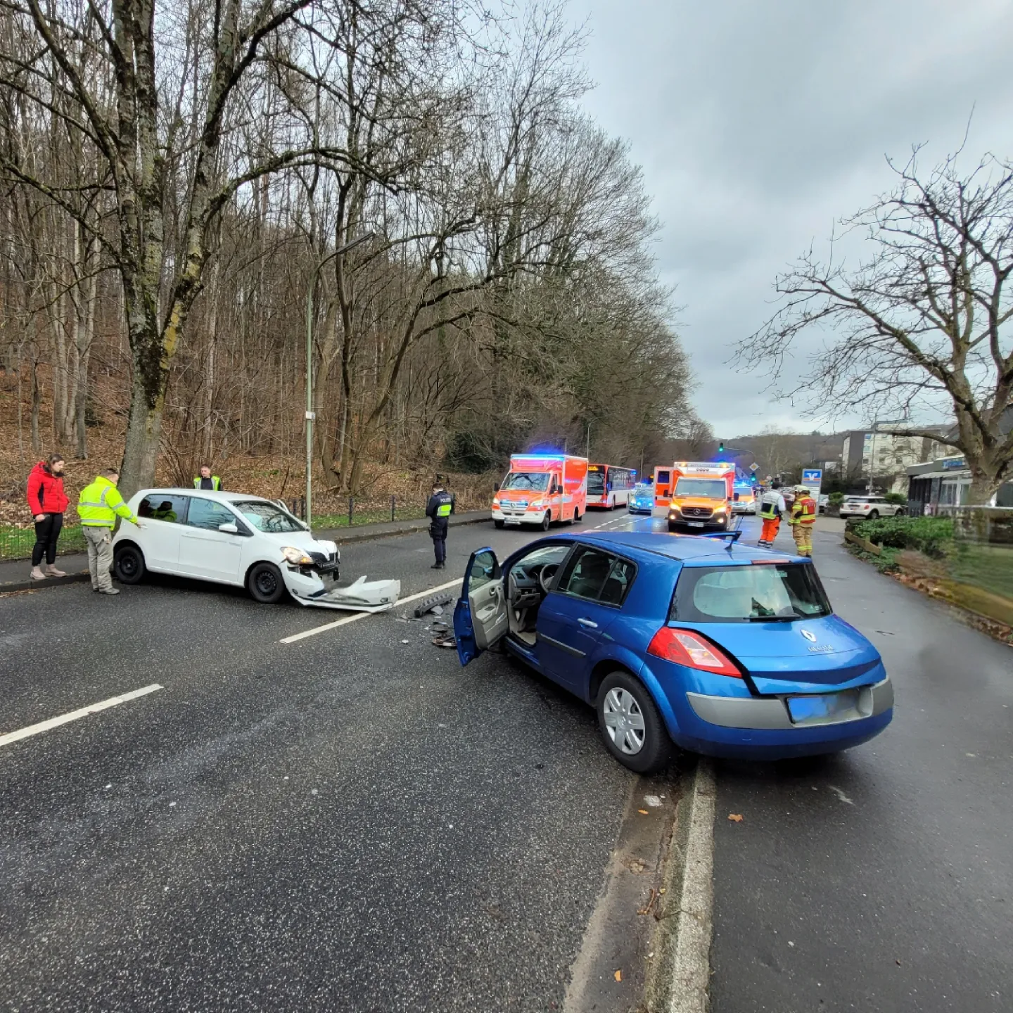
[[[446, 571], [420, 534], [342, 577], [406, 597], [537, 534], [451, 536]], [[583, 704], [396, 612], [280, 642], [341, 615], [164, 578], [0, 600], [0, 732], [163, 687], [0, 749], [0, 1009], [562, 1007], [636, 778]]]

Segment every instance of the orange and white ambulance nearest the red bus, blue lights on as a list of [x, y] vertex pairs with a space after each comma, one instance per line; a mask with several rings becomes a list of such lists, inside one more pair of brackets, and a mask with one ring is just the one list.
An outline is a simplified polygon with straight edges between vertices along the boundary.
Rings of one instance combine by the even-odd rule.
[[588, 508], [588, 459], [569, 454], [515, 454], [492, 497], [492, 521], [537, 525], [575, 524]]

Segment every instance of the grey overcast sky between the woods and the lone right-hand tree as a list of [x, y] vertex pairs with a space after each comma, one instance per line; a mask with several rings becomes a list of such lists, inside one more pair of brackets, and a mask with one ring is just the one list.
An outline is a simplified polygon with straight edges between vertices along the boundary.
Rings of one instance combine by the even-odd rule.
[[[1013, 155], [1008, 0], [571, 0], [596, 89], [664, 223], [664, 280], [719, 437], [810, 416], [726, 364], [770, 315], [779, 269], [891, 185], [884, 156]], [[824, 431], [860, 425], [842, 416]]]

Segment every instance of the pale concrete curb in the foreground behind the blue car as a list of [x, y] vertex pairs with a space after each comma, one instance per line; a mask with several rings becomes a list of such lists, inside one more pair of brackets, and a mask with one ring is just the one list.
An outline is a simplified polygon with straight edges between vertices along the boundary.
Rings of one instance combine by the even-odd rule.
[[714, 908], [714, 805], [710, 760], [697, 762], [693, 787], [680, 799], [666, 869], [664, 939], [648, 989], [656, 1013], [707, 1013]]

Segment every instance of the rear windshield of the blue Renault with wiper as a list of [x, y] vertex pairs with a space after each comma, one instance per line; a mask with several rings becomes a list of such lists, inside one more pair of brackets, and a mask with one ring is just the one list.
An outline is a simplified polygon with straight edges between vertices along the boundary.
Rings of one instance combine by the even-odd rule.
[[809, 563], [684, 566], [670, 620], [690, 623], [788, 621], [829, 616], [830, 602]]

